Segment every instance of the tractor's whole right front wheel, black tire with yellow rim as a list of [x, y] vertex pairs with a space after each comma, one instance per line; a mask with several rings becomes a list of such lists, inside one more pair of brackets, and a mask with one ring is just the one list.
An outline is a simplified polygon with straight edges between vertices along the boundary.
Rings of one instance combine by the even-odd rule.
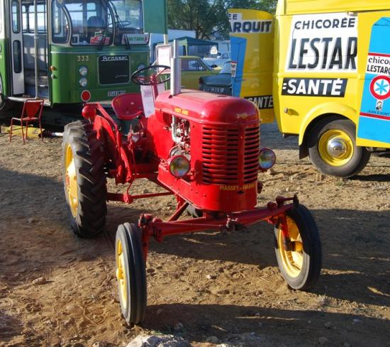
[[289, 238], [294, 250], [285, 250], [282, 228], [275, 226], [275, 253], [279, 270], [289, 287], [295, 290], [306, 290], [318, 280], [321, 272], [321, 241], [310, 211], [298, 205], [287, 211]]

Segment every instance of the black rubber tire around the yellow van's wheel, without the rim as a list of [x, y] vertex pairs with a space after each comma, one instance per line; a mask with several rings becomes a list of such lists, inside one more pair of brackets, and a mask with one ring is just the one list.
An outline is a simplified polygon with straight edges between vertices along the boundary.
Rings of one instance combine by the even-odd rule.
[[[352, 139], [354, 153], [348, 163], [342, 166], [333, 166], [326, 163], [318, 150], [318, 142], [326, 131], [339, 129], [347, 133]], [[349, 119], [340, 119], [338, 116], [323, 119], [316, 123], [308, 134], [308, 155], [311, 163], [325, 175], [337, 177], [352, 177], [357, 175], [367, 165], [371, 153], [367, 148], [356, 145], [356, 126]]]

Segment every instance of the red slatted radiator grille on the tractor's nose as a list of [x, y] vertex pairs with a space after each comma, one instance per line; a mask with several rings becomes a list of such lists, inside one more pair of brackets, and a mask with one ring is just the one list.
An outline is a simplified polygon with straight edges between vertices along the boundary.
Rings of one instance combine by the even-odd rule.
[[[240, 167], [240, 146], [243, 161]], [[260, 153], [259, 128], [246, 128], [240, 143], [238, 128], [204, 128], [202, 140], [203, 181], [208, 184], [244, 184], [257, 180]], [[243, 180], [240, 180], [243, 177]]]

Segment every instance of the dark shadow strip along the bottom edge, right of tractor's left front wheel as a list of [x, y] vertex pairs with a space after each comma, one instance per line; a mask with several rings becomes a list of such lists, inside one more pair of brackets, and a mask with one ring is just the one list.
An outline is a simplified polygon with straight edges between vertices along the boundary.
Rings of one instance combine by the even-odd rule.
[[[157, 310], [162, 310], [158, 316]], [[347, 342], [352, 346], [379, 347], [386, 346], [389, 337], [388, 322], [384, 319], [235, 305], [153, 305], [147, 307], [143, 327], [169, 334], [174, 332], [178, 321], [184, 322], [180, 333], [190, 341], [204, 342], [208, 336], [217, 336], [224, 342], [245, 341], [242, 345], [245, 347], [317, 346], [320, 336], [328, 338], [327, 346], [342, 346]], [[331, 322], [330, 329], [325, 327], [327, 322]], [[372, 334], [367, 336], [361, 331], [362, 325]]]

